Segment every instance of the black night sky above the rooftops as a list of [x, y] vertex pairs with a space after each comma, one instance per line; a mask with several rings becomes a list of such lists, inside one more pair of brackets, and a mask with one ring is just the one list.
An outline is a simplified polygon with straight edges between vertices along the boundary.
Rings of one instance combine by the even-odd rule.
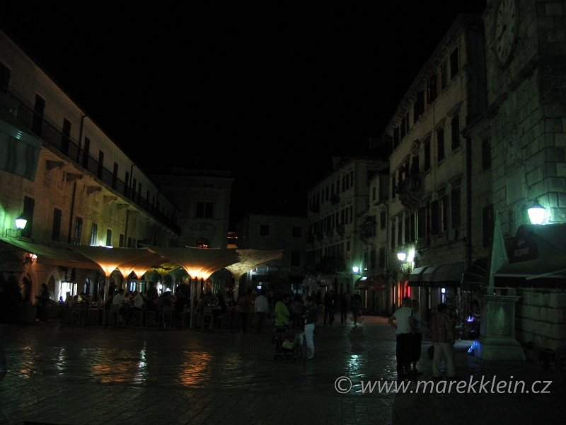
[[333, 156], [378, 154], [369, 137], [458, 13], [485, 10], [485, 0], [6, 3], [0, 26], [139, 166], [233, 171], [232, 222], [306, 214]]

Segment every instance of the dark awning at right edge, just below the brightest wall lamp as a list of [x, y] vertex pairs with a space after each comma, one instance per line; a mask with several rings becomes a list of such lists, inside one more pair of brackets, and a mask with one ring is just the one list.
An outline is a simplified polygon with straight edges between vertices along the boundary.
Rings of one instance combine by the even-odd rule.
[[495, 272], [495, 286], [563, 287], [566, 225], [523, 225], [509, 246], [509, 259]]

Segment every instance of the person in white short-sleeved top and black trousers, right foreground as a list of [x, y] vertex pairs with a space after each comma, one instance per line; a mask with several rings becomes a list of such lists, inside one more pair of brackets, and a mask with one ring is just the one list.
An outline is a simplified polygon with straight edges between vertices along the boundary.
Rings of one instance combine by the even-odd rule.
[[411, 368], [411, 332], [413, 324], [410, 297], [404, 297], [402, 305], [388, 319], [388, 323], [396, 329], [395, 339], [397, 347], [395, 356], [397, 358], [397, 379], [407, 378]]

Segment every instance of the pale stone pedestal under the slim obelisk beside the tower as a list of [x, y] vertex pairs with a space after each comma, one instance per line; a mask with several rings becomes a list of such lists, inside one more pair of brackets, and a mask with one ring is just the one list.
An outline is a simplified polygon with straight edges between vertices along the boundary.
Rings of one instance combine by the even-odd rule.
[[521, 344], [515, 339], [514, 295], [484, 295], [482, 335], [475, 341], [474, 355], [483, 360], [525, 360]]

